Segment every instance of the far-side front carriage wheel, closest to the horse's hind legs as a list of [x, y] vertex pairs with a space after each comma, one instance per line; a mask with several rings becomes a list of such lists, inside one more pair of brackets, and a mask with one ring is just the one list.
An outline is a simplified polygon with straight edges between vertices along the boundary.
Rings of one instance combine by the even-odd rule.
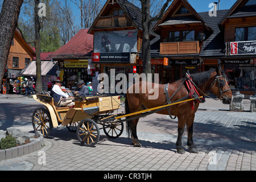
[[123, 133], [123, 122], [105, 123], [103, 130], [109, 138], [117, 138]]

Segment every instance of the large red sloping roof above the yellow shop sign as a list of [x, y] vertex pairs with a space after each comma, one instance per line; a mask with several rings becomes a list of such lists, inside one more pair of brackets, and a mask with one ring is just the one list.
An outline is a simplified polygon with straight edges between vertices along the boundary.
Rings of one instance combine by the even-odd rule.
[[88, 28], [81, 29], [67, 44], [51, 53], [50, 59], [79, 59], [92, 56], [93, 35]]

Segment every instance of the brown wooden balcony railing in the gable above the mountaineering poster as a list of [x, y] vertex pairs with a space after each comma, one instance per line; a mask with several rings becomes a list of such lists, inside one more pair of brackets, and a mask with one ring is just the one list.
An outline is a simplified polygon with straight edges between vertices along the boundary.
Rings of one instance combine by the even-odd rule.
[[119, 16], [101, 16], [94, 28], [106, 28], [106, 27], [123, 27], [131, 26], [132, 23], [127, 15]]

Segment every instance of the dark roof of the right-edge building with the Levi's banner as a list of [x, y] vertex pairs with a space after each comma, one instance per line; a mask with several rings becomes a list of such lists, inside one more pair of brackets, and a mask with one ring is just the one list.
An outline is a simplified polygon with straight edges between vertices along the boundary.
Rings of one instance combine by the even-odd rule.
[[218, 22], [218, 27], [222, 29], [227, 18], [256, 16], [256, 5], [245, 6], [248, 1], [249, 0], [237, 0], [229, 11], [222, 16], [221, 20]]

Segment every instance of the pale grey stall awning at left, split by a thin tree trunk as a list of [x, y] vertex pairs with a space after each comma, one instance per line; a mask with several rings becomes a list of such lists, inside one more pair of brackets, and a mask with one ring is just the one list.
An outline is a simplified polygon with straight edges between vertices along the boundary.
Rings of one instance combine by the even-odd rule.
[[[56, 63], [57, 61], [41, 61], [42, 76], [56, 75], [56, 71], [58, 69], [55, 65]], [[28, 64], [27, 67], [20, 72], [20, 75], [36, 76], [36, 61], [31, 61], [30, 64]]]

